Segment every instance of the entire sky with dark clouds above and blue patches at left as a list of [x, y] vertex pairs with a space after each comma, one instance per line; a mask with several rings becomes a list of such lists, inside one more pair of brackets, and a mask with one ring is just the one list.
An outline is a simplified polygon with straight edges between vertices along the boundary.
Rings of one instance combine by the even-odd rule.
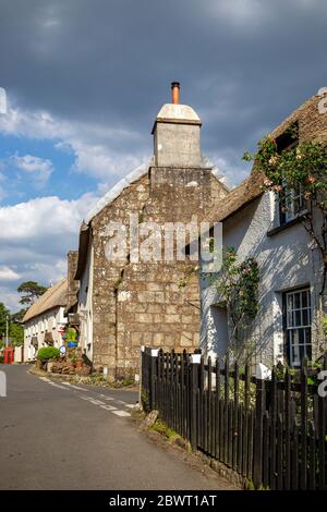
[[170, 82], [233, 184], [327, 86], [326, 0], [0, 0], [0, 302], [65, 273], [94, 202], [152, 155]]

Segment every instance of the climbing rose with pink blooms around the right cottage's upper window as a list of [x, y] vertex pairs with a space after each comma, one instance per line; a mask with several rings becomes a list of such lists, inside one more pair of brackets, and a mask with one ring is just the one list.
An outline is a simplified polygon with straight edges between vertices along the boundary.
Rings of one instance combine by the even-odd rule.
[[[292, 127], [288, 132], [295, 137]], [[302, 211], [299, 208], [298, 218], [320, 253], [320, 295], [324, 295], [327, 288], [327, 144], [308, 141], [279, 153], [276, 139], [267, 135], [258, 142], [255, 154], [246, 151], [243, 158], [252, 160], [255, 169], [264, 173], [263, 190], [277, 195], [282, 211], [292, 211], [289, 205], [293, 207], [294, 192], [301, 193], [306, 202]]]

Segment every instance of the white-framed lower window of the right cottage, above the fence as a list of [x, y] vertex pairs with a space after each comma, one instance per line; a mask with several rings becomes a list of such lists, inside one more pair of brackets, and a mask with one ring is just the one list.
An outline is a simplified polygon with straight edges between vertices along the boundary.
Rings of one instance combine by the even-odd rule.
[[312, 358], [310, 289], [284, 293], [284, 331], [291, 366], [300, 366], [304, 356]]

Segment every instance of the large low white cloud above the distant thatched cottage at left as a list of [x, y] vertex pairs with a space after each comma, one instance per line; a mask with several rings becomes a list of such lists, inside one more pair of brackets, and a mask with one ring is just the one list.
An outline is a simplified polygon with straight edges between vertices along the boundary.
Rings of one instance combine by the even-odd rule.
[[[50, 196], [0, 208], [0, 281], [49, 285], [62, 279], [64, 255], [77, 248], [81, 221], [98, 198], [94, 194], [76, 200]], [[19, 298], [9, 287], [0, 287], [0, 301], [12, 310], [20, 307]]]

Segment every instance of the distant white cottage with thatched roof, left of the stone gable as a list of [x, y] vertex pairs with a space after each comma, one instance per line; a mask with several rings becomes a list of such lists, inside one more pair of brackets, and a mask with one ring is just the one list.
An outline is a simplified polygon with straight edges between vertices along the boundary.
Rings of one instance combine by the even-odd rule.
[[68, 319], [64, 309], [68, 301], [68, 280], [62, 279], [49, 288], [26, 312], [24, 324], [24, 361], [34, 359], [43, 346], [62, 345], [62, 327]]

